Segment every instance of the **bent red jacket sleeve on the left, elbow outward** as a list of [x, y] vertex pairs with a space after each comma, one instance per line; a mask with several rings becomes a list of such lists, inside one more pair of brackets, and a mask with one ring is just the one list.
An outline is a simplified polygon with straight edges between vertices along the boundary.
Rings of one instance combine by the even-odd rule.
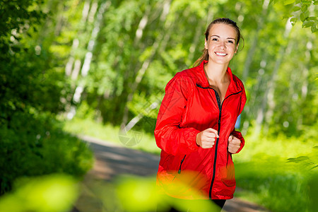
[[170, 155], [187, 154], [199, 148], [196, 134], [200, 131], [192, 127], [180, 127], [191, 89], [189, 81], [179, 73], [165, 88], [155, 126], [155, 141], [159, 148]]

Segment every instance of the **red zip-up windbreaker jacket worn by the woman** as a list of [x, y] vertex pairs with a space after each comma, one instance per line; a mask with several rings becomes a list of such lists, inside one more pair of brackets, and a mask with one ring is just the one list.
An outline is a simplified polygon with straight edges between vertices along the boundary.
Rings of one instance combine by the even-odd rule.
[[[246, 102], [245, 89], [228, 68], [230, 85], [220, 102], [204, 73], [206, 62], [177, 73], [167, 83], [155, 126], [155, 141], [162, 149], [157, 184], [160, 192], [177, 198], [231, 199], [235, 176], [228, 137], [240, 139], [238, 153], [245, 141], [234, 126]], [[218, 131], [219, 139], [213, 148], [201, 148], [196, 134], [210, 127]]]

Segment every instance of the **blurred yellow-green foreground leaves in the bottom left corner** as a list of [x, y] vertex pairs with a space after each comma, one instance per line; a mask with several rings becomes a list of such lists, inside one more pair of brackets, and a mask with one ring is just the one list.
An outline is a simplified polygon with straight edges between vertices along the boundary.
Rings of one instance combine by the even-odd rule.
[[78, 196], [76, 180], [68, 175], [23, 178], [16, 184], [1, 197], [0, 211], [69, 211]]

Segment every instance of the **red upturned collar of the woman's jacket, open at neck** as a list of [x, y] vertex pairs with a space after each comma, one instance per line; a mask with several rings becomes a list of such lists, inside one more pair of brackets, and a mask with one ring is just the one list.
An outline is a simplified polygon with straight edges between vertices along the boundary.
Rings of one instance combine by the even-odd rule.
[[[199, 66], [196, 66], [197, 74], [198, 74], [198, 82], [202, 88], [210, 88], [210, 84], [208, 83], [208, 79], [206, 78], [206, 74], [204, 73], [204, 64], [206, 64], [208, 61], [204, 60], [199, 64]], [[228, 67], [227, 70], [228, 76], [230, 76], [230, 85], [228, 86], [228, 90], [226, 91], [225, 98], [228, 95], [231, 95], [232, 93], [238, 93], [242, 91], [242, 88], [237, 85], [237, 77], [232, 74], [232, 70], [230, 67]]]

